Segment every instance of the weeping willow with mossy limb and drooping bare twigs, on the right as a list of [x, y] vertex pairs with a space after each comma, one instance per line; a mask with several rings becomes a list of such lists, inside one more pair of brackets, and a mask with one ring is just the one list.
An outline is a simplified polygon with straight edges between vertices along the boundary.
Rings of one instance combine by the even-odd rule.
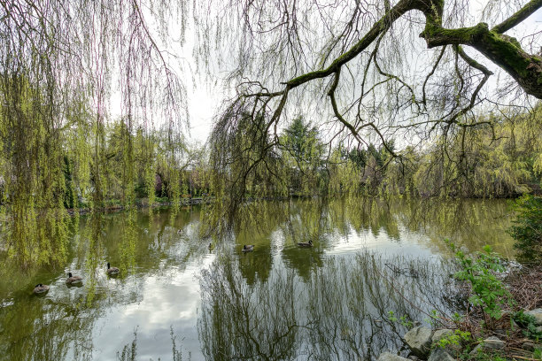
[[[443, 164], [458, 173], [452, 168], [469, 156], [461, 140], [494, 125], [481, 114], [530, 108], [542, 98], [539, 26], [530, 19], [541, 7], [540, 0], [477, 7], [466, 0], [202, 3], [197, 55], [226, 53], [209, 68], [233, 69], [231, 99], [211, 135], [221, 151], [213, 157], [216, 181], [229, 189], [232, 204], [248, 195], [248, 183], [239, 180], [281, 184], [275, 152], [282, 129], [299, 113], [316, 121], [331, 164], [341, 157], [337, 143], [346, 152], [370, 144], [385, 150], [383, 164], [370, 160], [368, 179], [381, 181], [394, 159], [400, 175], [414, 173], [407, 168], [412, 150], [428, 142], [442, 143]], [[453, 142], [465, 146], [463, 156], [446, 154]], [[345, 177], [332, 187], [355, 183], [344, 167], [329, 172]], [[414, 186], [410, 178], [403, 188]]]

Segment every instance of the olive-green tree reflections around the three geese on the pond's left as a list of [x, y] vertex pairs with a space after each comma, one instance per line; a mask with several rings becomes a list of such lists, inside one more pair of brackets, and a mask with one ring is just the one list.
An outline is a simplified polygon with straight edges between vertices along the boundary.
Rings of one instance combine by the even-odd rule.
[[[201, 240], [182, 238], [176, 232], [178, 228], [169, 226], [170, 222], [168, 212], [157, 212], [152, 221], [143, 212], [130, 211], [76, 218], [72, 227], [78, 234], [69, 254], [76, 255], [83, 264], [81, 288], [67, 288], [64, 271], [38, 269], [20, 273], [17, 267], [10, 271], [10, 267], [3, 266], [5, 280], [14, 283], [15, 289], [0, 283], [0, 294], [10, 296], [0, 304], [0, 352], [10, 360], [92, 359], [92, 333], [97, 319], [104, 317], [112, 305], [136, 303], [143, 297], [141, 280], [132, 277], [133, 273], [159, 272], [159, 260], [164, 261], [161, 265], [166, 273], [169, 265], [182, 269], [187, 264], [182, 260], [203, 257], [202, 246], [206, 247]], [[147, 227], [151, 230], [143, 232]], [[184, 230], [190, 225], [182, 218], [176, 227]], [[159, 242], [156, 249], [155, 241]], [[127, 272], [115, 283], [119, 288], [107, 287], [107, 260], [122, 268], [127, 265]], [[129, 265], [135, 264], [138, 267], [129, 271]], [[124, 288], [127, 277], [130, 287]], [[52, 286], [50, 293], [43, 297], [30, 295], [35, 283], [43, 280]]]

